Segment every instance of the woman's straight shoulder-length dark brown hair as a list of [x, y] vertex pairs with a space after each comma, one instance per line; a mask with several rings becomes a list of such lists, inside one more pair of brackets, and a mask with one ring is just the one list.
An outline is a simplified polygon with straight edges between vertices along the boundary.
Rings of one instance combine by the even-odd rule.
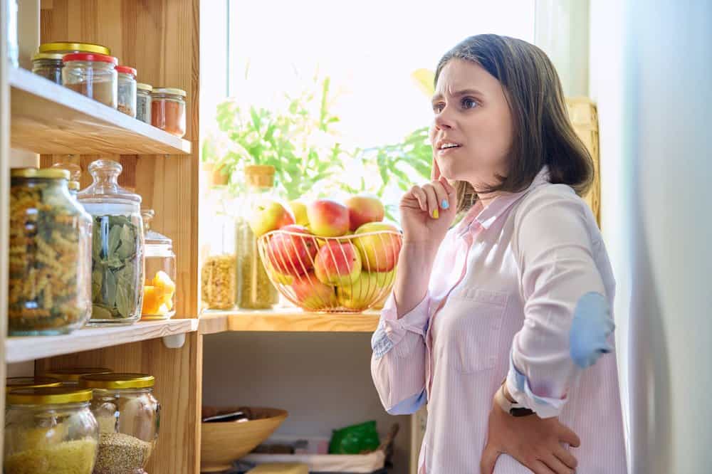
[[[509, 172], [500, 184], [481, 193], [526, 189], [544, 165], [552, 183], [568, 184], [584, 194], [593, 181], [593, 159], [569, 120], [559, 76], [548, 56], [533, 44], [498, 35], [470, 36], [445, 53], [435, 84], [451, 59], [472, 61], [493, 75], [506, 91], [514, 137]], [[457, 181], [458, 211], [471, 207], [477, 193]]]

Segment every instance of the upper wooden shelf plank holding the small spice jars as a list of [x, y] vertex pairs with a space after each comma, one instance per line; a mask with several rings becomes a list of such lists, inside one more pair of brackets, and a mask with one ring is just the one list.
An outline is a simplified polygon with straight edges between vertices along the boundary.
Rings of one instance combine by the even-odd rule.
[[40, 154], [189, 154], [190, 142], [10, 68], [11, 146]]

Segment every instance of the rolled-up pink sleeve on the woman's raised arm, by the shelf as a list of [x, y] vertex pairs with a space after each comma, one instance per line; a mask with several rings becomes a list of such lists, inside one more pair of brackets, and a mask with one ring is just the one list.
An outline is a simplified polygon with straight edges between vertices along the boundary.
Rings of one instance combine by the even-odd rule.
[[389, 414], [415, 413], [426, 402], [425, 334], [430, 297], [398, 318], [394, 297], [386, 301], [371, 338], [371, 374]]

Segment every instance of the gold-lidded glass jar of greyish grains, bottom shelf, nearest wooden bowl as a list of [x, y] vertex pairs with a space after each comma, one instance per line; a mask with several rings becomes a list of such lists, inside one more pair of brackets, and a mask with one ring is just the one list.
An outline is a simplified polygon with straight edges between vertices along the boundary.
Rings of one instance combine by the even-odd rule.
[[103, 374], [79, 379], [80, 387], [94, 391], [91, 410], [99, 423], [94, 474], [143, 474], [160, 426], [154, 384], [154, 378], [146, 374]]

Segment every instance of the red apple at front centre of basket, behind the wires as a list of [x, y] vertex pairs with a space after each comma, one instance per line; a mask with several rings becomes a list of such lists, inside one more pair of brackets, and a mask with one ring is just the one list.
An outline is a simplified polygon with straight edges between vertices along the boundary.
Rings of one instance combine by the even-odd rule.
[[316, 254], [314, 273], [327, 285], [350, 285], [361, 274], [361, 257], [350, 242], [328, 241]]

